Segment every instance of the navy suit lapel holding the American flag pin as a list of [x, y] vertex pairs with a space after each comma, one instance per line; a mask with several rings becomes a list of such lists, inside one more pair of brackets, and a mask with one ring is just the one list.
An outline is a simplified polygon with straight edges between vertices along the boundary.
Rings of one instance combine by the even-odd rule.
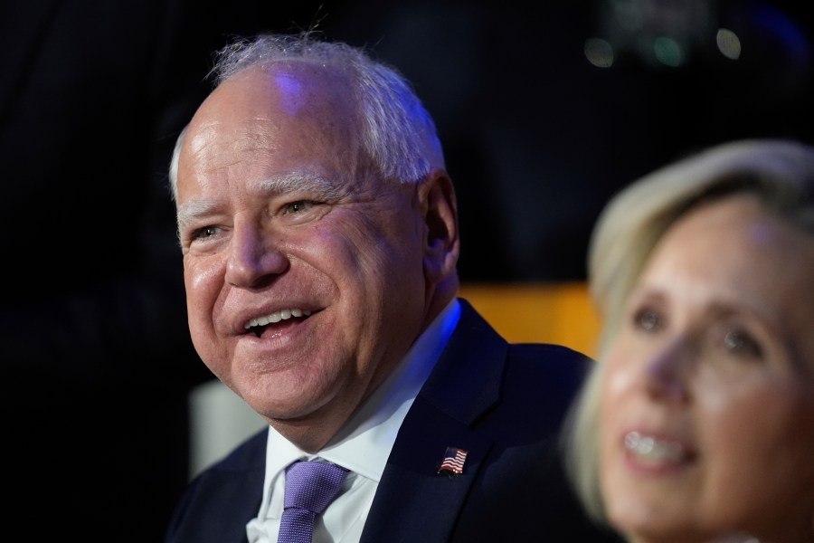
[[[507, 344], [461, 300], [459, 325], [393, 444], [362, 543], [448, 541], [491, 441], [470, 425], [499, 399]], [[447, 447], [463, 472], [438, 473]]]

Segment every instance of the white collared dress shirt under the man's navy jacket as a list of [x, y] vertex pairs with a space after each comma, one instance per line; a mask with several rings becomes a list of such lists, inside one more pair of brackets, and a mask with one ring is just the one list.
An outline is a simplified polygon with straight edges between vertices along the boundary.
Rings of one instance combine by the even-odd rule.
[[246, 525], [249, 543], [277, 543], [286, 467], [301, 459], [334, 462], [350, 470], [339, 495], [317, 516], [313, 543], [358, 543], [404, 416], [459, 318], [460, 305], [453, 300], [415, 341], [393, 374], [317, 454], [301, 451], [270, 427], [263, 500], [257, 518]]

